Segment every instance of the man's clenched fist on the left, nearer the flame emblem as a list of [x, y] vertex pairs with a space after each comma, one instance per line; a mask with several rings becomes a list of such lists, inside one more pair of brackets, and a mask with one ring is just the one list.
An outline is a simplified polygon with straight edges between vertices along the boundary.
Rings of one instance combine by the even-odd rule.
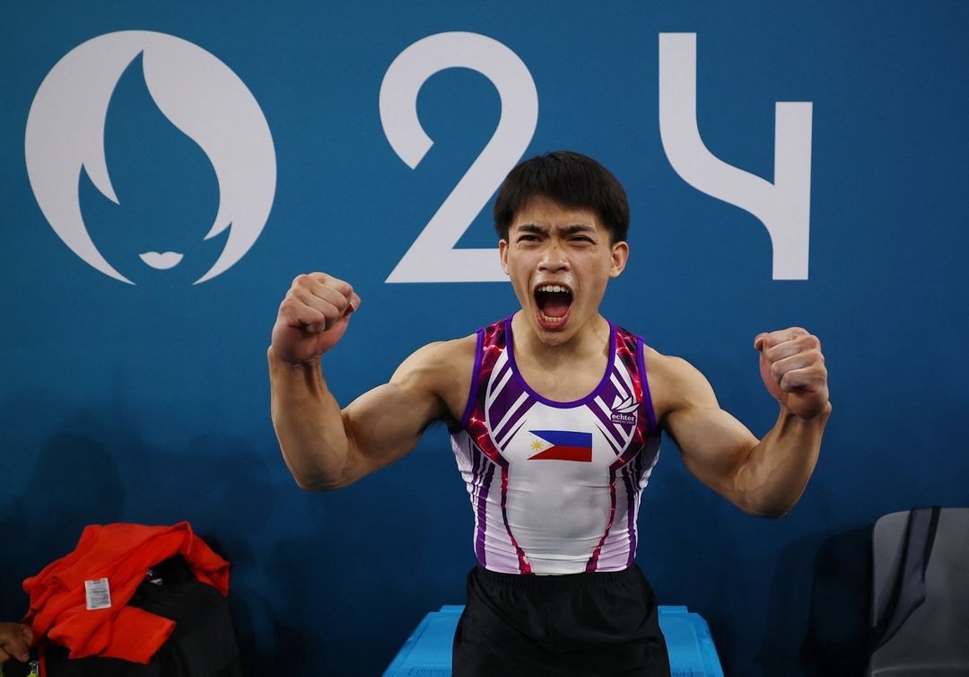
[[348, 282], [325, 273], [297, 275], [272, 327], [273, 354], [291, 365], [315, 360], [343, 337], [359, 306]]

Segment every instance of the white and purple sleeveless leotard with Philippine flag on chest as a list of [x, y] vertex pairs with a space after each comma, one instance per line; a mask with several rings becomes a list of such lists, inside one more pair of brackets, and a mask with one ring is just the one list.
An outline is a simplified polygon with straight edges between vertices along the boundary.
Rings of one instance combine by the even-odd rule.
[[610, 323], [602, 381], [569, 403], [525, 383], [512, 344], [511, 317], [478, 331], [471, 393], [451, 431], [478, 563], [534, 574], [626, 568], [660, 446], [642, 339]]

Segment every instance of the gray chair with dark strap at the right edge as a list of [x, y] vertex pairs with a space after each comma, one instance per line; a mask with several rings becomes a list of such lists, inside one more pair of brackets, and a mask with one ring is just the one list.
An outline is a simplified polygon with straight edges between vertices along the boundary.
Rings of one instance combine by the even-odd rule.
[[[872, 625], [898, 575], [908, 512], [875, 523]], [[969, 508], [943, 508], [925, 571], [925, 601], [868, 663], [869, 677], [969, 675]]]

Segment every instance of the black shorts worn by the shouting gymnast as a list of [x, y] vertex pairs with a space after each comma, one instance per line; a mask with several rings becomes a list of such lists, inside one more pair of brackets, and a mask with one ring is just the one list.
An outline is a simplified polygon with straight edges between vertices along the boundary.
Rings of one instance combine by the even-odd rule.
[[475, 566], [454, 677], [670, 677], [656, 597], [635, 564], [553, 576]]

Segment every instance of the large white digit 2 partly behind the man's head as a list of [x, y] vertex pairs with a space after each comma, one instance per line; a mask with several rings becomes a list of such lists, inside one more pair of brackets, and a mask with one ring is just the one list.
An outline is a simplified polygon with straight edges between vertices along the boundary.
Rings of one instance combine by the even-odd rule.
[[454, 245], [531, 143], [539, 114], [535, 81], [514, 51], [477, 33], [438, 33], [404, 49], [381, 84], [380, 119], [391, 147], [411, 169], [417, 168], [434, 143], [418, 118], [418, 92], [431, 76], [447, 68], [468, 68], [491, 81], [501, 97], [501, 117], [490, 141], [400, 259], [388, 282], [508, 279], [497, 249], [455, 249]]

